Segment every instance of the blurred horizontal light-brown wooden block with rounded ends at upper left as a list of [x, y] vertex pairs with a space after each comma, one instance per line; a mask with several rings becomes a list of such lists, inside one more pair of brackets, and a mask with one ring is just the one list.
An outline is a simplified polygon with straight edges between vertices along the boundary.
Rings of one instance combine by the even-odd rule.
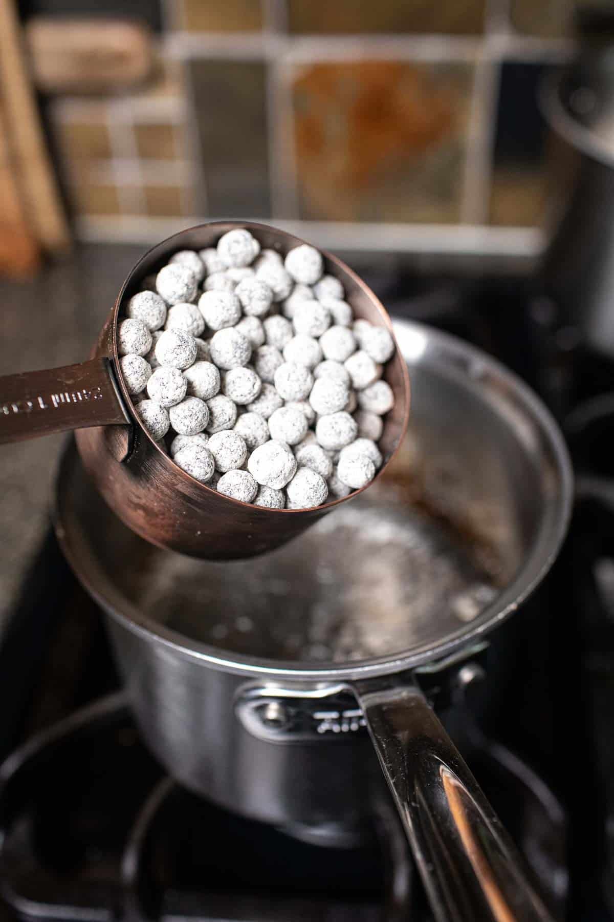
[[151, 33], [137, 22], [35, 17], [26, 40], [33, 79], [48, 93], [129, 89], [152, 70]]

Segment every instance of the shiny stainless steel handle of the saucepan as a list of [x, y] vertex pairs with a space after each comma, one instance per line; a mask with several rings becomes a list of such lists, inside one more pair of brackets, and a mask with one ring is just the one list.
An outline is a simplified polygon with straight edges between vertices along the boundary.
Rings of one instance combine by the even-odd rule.
[[354, 692], [438, 922], [550, 919], [423, 694], [368, 683]]

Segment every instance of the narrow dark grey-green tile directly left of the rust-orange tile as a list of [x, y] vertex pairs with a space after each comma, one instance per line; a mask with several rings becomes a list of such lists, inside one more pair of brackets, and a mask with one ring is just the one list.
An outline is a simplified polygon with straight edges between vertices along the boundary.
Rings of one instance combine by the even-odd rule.
[[191, 80], [207, 191], [217, 217], [270, 215], [265, 65], [192, 61]]

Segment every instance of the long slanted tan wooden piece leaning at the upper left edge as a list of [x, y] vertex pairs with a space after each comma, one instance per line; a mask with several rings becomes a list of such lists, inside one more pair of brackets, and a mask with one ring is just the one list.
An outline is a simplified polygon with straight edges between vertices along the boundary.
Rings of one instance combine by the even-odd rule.
[[14, 0], [0, 0], [0, 100], [4, 144], [14, 164], [13, 175], [18, 175], [29, 231], [42, 250], [67, 250], [68, 224], [29, 83]]

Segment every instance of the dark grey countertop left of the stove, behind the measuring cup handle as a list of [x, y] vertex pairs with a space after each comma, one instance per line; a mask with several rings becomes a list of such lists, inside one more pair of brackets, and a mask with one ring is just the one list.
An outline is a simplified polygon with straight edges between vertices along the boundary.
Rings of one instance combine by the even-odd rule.
[[[29, 281], [0, 279], [0, 375], [87, 359], [141, 246], [85, 245]], [[48, 522], [64, 435], [0, 446], [0, 630]]]

